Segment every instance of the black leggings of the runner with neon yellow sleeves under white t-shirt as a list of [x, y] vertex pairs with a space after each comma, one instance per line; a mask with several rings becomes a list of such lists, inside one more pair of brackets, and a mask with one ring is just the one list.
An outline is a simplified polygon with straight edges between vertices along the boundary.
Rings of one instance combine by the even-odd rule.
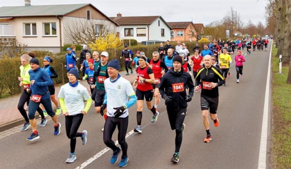
[[71, 139], [71, 153], [75, 153], [76, 138], [82, 137], [82, 133], [78, 133], [77, 131], [82, 123], [83, 116], [82, 113], [75, 116], [65, 116], [65, 132], [67, 137]]

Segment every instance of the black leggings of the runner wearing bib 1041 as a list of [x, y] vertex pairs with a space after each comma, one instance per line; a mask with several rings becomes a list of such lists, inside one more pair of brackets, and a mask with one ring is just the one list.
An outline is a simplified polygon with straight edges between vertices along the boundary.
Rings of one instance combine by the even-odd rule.
[[173, 108], [167, 107], [167, 113], [168, 113], [171, 129], [176, 130], [175, 152], [180, 151], [180, 147], [182, 144], [182, 138], [183, 138], [182, 125], [185, 119], [186, 112], [187, 112], [187, 108], [173, 109]]

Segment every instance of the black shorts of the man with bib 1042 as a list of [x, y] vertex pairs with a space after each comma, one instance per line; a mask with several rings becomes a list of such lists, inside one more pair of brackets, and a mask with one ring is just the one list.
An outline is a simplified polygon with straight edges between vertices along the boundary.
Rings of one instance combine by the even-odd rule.
[[218, 108], [218, 97], [208, 98], [205, 96], [200, 97], [201, 110], [208, 110], [211, 114], [216, 114]]

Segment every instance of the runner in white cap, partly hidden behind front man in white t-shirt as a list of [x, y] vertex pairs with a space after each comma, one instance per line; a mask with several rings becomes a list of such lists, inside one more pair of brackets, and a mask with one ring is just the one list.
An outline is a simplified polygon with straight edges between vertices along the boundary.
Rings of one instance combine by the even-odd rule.
[[[97, 62], [94, 65], [95, 73], [94, 73], [94, 78], [93, 78], [93, 85], [92, 87], [94, 88], [95, 94], [92, 94], [92, 97], [94, 97], [95, 100], [95, 111], [97, 113], [100, 113], [101, 116], [104, 116], [104, 119], [106, 121], [107, 119], [107, 114], [103, 114], [103, 111], [101, 112], [101, 106], [104, 101], [104, 96], [105, 96], [105, 87], [104, 87], [104, 80], [109, 77], [108, 75], [108, 58], [109, 55], [107, 52], [102, 52], [101, 55], [101, 62]], [[95, 85], [96, 84], [96, 85]], [[94, 96], [93, 96], [94, 95]], [[104, 128], [101, 129], [103, 131]]]

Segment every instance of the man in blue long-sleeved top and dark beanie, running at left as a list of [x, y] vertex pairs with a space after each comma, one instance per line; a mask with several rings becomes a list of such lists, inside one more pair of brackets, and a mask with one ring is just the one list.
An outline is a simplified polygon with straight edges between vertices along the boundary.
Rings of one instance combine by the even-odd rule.
[[31, 70], [29, 70], [30, 81], [31, 81], [31, 91], [32, 97], [29, 103], [28, 117], [29, 122], [32, 126], [32, 134], [27, 140], [33, 141], [39, 138], [38, 132], [36, 130], [36, 120], [34, 114], [39, 104], [42, 104], [47, 110], [51, 120], [54, 122], [54, 135], [60, 134], [61, 123], [58, 123], [58, 117], [55, 115], [51, 107], [51, 101], [49, 97], [48, 86], [52, 85], [52, 81], [48, 73], [39, 67], [39, 61], [37, 58], [32, 58], [30, 61]]

